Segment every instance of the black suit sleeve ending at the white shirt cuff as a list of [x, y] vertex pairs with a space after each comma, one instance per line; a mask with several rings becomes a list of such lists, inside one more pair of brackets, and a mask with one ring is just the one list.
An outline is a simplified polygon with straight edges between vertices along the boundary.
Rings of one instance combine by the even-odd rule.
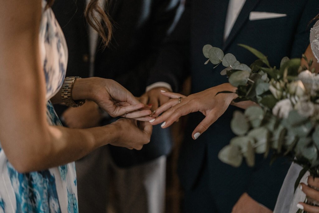
[[164, 81], [178, 91], [189, 74], [190, 2], [183, 3], [181, 19], [161, 46], [159, 56], [150, 71], [147, 85]]

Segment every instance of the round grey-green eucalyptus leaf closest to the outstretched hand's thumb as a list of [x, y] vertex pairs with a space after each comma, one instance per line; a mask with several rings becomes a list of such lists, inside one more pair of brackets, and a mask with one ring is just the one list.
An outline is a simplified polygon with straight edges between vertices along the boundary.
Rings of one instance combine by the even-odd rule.
[[249, 130], [249, 122], [241, 111], [234, 111], [233, 119], [230, 122], [230, 128], [236, 135], [244, 135]]

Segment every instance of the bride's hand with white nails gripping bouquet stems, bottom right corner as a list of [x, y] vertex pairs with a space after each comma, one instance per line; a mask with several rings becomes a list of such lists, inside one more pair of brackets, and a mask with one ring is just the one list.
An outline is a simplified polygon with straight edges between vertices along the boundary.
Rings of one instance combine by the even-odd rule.
[[[299, 188], [306, 194], [308, 198], [311, 198], [315, 200], [316, 202], [319, 202], [319, 191], [314, 189], [314, 188], [319, 189], [319, 178], [314, 179], [312, 176], [309, 176], [307, 182], [308, 182], [308, 186], [304, 183], [300, 183]], [[309, 186], [313, 186], [314, 188]], [[309, 213], [319, 212], [318, 206], [311, 206], [304, 202], [299, 202], [297, 204], [297, 207]]]

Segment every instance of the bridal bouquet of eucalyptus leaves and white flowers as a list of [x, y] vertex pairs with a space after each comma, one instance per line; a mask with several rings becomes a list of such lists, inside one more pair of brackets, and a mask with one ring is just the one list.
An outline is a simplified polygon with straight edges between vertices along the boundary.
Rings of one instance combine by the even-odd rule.
[[258, 50], [240, 46], [258, 60], [248, 66], [219, 48], [203, 48], [208, 58], [205, 64], [210, 61], [226, 67], [221, 75], [227, 75], [229, 83], [237, 87], [234, 102], [257, 103], [244, 112], [234, 112], [230, 125], [237, 136], [219, 152], [219, 159], [234, 167], [245, 159], [254, 166], [256, 154], [267, 157], [273, 153], [274, 158], [287, 156], [303, 167], [295, 187], [306, 171], [319, 177], [319, 75], [309, 71], [312, 59], [303, 55], [308, 66], [300, 66], [300, 58], [284, 57], [277, 68]]

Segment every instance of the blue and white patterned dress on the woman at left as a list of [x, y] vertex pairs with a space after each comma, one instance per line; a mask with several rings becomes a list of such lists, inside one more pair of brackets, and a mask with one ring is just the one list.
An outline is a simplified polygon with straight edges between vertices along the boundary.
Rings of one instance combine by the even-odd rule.
[[[40, 51], [46, 79], [47, 120], [61, 125], [49, 101], [63, 84], [68, 51], [51, 9], [42, 0]], [[78, 212], [75, 164], [21, 174], [8, 162], [0, 143], [0, 213]]]

